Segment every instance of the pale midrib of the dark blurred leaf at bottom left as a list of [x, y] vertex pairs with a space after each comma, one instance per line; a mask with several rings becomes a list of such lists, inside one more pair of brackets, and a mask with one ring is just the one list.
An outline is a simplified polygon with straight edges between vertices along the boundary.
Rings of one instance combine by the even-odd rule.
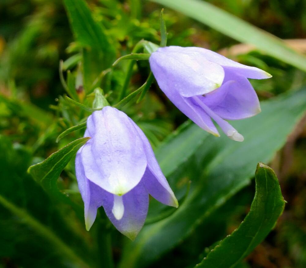
[[25, 210], [16, 207], [14, 204], [6, 200], [3, 196], [0, 195], [0, 204], [3, 207], [8, 209], [17, 217], [21, 218], [24, 223], [33, 228], [41, 237], [44, 237], [54, 245], [54, 248], [58, 250], [63, 256], [69, 258], [73, 261], [77, 267], [89, 268], [88, 264], [84, 262], [78, 255], [76, 255], [62, 240], [60, 240], [50, 229], [43, 226], [35, 218], [32, 218]]

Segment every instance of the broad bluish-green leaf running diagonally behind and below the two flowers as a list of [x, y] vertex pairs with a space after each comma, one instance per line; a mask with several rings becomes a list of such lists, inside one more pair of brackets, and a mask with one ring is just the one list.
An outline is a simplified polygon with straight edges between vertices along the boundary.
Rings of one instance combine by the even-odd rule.
[[[149, 265], [186, 238], [211, 212], [247, 185], [256, 164], [271, 161], [275, 152], [284, 145], [286, 137], [305, 112], [305, 99], [306, 90], [285, 94], [262, 102], [259, 115], [231, 122], [244, 135], [241, 143], [230, 140], [226, 135], [220, 138], [207, 135], [204, 130], [191, 125], [189, 128], [193, 130], [189, 135], [195, 137], [192, 141], [201, 135], [206, 138], [186, 166], [183, 161], [187, 160], [185, 155], [191, 142], [181, 139], [180, 135], [184, 132], [170, 139], [168, 144], [163, 144], [159, 149], [161, 153], [157, 150], [156, 155], [171, 188], [177, 195], [180, 191], [178, 180], [185, 176], [186, 182], [192, 180], [190, 193], [172, 215], [144, 226], [133, 243], [127, 242], [121, 267]], [[176, 149], [174, 143], [179, 145]], [[186, 149], [181, 149], [183, 147]], [[193, 173], [183, 172], [188, 166], [192, 167]], [[173, 175], [169, 177], [170, 173]]]

